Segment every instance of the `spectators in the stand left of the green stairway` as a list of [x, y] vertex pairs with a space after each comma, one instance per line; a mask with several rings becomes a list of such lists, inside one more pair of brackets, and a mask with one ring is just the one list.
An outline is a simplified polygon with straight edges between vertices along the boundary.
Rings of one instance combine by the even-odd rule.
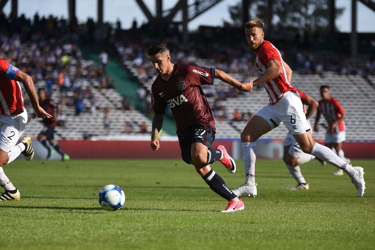
[[[24, 15], [12, 20], [0, 12], [0, 30], [0, 57], [29, 74], [36, 85], [44, 81], [50, 97], [52, 87], [57, 85], [61, 93], [60, 105], [74, 107], [76, 116], [81, 112], [98, 111], [98, 100], [92, 88], [114, 88], [113, 77], [105, 74], [108, 55], [104, 51], [99, 67], [91, 58], [83, 60], [79, 43], [95, 34], [92, 20], [78, 25], [51, 15], [40, 18], [37, 13], [33, 20]], [[84, 82], [95, 84], [87, 86]], [[91, 104], [87, 109], [85, 99]], [[30, 104], [26, 94], [24, 103], [26, 107]], [[60, 124], [65, 125], [64, 122]]]

